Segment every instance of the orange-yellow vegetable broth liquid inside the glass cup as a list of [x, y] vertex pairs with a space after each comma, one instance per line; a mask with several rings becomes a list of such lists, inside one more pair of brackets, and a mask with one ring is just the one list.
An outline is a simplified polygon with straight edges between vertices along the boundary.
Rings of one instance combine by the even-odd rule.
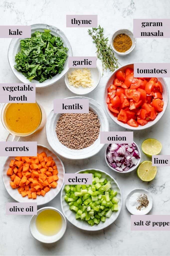
[[31, 134], [39, 127], [41, 119], [37, 103], [9, 103], [4, 111], [5, 124], [15, 134]]

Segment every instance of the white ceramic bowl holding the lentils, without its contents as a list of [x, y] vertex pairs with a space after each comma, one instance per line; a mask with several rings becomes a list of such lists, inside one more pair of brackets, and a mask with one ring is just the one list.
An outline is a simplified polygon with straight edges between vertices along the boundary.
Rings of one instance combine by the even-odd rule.
[[[106, 117], [105, 112], [103, 111], [101, 105], [96, 102], [95, 100], [92, 100], [87, 97], [70, 97], [67, 99], [88, 99], [89, 100], [89, 109], [92, 110], [95, 114], [98, 115], [99, 121], [100, 121], [100, 131], [109, 131], [109, 124]], [[51, 148], [60, 156], [63, 156], [67, 159], [84, 159], [91, 157], [95, 154], [97, 154], [104, 144], [100, 143], [100, 134], [97, 140], [89, 147], [83, 148], [80, 150], [74, 150], [71, 148], [66, 147], [63, 145], [56, 135], [55, 129], [56, 129], [56, 123], [59, 119], [60, 114], [54, 114], [53, 110], [50, 112], [50, 114], [47, 117], [46, 121], [46, 137], [47, 141], [50, 144]]]

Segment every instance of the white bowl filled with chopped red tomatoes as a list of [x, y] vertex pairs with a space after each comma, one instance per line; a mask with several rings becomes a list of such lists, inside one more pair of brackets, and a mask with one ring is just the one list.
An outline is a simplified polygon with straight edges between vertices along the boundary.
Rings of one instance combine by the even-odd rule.
[[104, 103], [111, 119], [130, 130], [151, 127], [165, 113], [168, 88], [163, 78], [133, 76], [133, 63], [115, 70], [104, 89]]

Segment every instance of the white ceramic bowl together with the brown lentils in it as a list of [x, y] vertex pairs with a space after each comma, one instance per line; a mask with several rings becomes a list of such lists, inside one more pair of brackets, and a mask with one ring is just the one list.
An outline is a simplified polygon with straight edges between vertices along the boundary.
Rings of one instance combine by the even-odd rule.
[[97, 154], [104, 144], [100, 143], [100, 132], [109, 131], [109, 124], [101, 105], [87, 97], [89, 113], [55, 114], [47, 117], [46, 136], [51, 148], [67, 159], [85, 159]]

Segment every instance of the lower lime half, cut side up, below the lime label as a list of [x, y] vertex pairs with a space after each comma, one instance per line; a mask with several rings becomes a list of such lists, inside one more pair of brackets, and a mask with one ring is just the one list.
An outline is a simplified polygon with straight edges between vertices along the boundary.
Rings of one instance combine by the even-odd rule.
[[151, 161], [143, 161], [137, 168], [137, 175], [143, 181], [151, 181], [156, 176], [156, 166]]

